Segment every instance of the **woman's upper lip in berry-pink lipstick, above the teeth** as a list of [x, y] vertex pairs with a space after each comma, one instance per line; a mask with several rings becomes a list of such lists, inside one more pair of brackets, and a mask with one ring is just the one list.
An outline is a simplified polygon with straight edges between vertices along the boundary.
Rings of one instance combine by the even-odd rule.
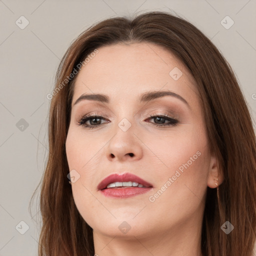
[[97, 189], [100, 190], [100, 189], [106, 188], [108, 184], [113, 182], [118, 182], [118, 181], [119, 182], [132, 181], [132, 182], [137, 182], [139, 184], [142, 184], [143, 186], [146, 186], [146, 187], [152, 186], [152, 184], [145, 181], [144, 179], [134, 174], [131, 174], [129, 172], [126, 172], [123, 174], [120, 174], [120, 173], [110, 174], [109, 176], [107, 176], [106, 178], [100, 181], [100, 183], [97, 186]]

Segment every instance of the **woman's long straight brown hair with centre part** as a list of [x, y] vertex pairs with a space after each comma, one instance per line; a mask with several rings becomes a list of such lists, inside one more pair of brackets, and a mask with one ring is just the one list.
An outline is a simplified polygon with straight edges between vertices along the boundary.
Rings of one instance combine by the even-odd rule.
[[[95, 49], [132, 42], [164, 47], [184, 63], [197, 83], [210, 150], [224, 175], [219, 196], [216, 189], [207, 187], [201, 230], [203, 255], [251, 256], [256, 230], [256, 142], [244, 96], [216, 46], [188, 21], [163, 11], [98, 22], [82, 32], [61, 59], [50, 95], [39, 256], [94, 254], [92, 228], [79, 214], [67, 179], [65, 140], [76, 77], [70, 79], [69, 75], [74, 69], [79, 71], [79, 63], [85, 64], [84, 59]], [[220, 229], [225, 221], [234, 226], [229, 234]]]

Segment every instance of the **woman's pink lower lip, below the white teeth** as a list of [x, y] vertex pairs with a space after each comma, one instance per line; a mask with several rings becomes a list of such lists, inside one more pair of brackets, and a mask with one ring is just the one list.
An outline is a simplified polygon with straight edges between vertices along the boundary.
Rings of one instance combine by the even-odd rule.
[[105, 188], [101, 193], [105, 196], [115, 198], [127, 198], [138, 194], [143, 194], [151, 190], [152, 187], [125, 187], [125, 188]]

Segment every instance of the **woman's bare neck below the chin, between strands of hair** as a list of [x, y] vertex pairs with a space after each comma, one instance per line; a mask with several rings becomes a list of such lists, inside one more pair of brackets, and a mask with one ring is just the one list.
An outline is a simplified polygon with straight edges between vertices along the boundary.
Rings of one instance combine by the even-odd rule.
[[[190, 219], [191, 220], [191, 219]], [[93, 230], [94, 250], [98, 256], [202, 256], [201, 225], [197, 222], [177, 224], [171, 230], [112, 236]]]

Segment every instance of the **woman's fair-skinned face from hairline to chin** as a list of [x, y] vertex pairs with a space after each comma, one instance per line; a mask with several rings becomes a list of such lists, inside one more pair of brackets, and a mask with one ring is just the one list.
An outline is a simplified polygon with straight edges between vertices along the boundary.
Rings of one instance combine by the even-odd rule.
[[[76, 101], [82, 94], [104, 94], [108, 102]], [[102, 117], [79, 125], [88, 114]], [[98, 48], [77, 74], [65, 145], [73, 198], [94, 233], [200, 232], [206, 188], [215, 187], [216, 174], [202, 114], [193, 77], [167, 50], [152, 43]], [[110, 174], [126, 172], [151, 187], [98, 190]]]

